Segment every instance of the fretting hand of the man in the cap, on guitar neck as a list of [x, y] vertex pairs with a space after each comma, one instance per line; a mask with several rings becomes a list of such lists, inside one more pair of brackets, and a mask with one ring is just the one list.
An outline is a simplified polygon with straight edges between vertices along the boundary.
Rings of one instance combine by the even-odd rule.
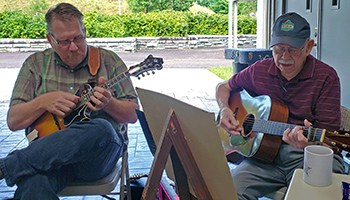
[[[312, 124], [305, 119], [304, 125], [309, 128]], [[308, 145], [308, 139], [304, 136], [303, 130], [301, 126], [296, 126], [292, 130], [288, 128], [283, 132], [282, 140], [295, 148], [303, 149]]]

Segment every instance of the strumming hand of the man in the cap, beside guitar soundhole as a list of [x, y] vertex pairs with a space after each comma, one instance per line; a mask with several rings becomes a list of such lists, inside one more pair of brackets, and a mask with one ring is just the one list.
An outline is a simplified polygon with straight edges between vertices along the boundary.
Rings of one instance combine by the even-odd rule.
[[241, 135], [242, 128], [230, 108], [220, 110], [220, 126], [231, 135]]

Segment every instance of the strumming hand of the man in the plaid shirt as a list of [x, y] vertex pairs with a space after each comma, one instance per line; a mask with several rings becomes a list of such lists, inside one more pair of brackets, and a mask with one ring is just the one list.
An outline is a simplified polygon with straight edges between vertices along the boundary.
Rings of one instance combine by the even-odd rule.
[[80, 98], [74, 94], [62, 91], [49, 92], [44, 95], [45, 99], [42, 102], [45, 110], [61, 118], [72, 112]]

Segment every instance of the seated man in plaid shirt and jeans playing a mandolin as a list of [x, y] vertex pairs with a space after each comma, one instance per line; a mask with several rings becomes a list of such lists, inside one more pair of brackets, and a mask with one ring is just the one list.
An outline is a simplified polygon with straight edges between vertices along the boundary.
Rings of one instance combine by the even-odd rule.
[[[127, 123], [136, 122], [139, 108], [129, 78], [110, 89], [102, 87], [127, 70], [115, 53], [99, 49], [100, 66], [96, 74], [91, 73], [92, 47], [87, 45], [83, 14], [76, 7], [60, 3], [45, 17], [52, 48], [24, 62], [7, 119], [11, 130], [26, 129], [34, 140], [0, 158], [0, 179], [5, 178], [9, 186], [17, 185], [15, 199], [58, 199], [57, 193], [69, 182], [95, 181], [108, 175], [122, 156]], [[36, 138], [31, 125], [45, 113], [55, 120], [69, 116], [82, 99], [75, 91], [88, 80], [96, 83], [86, 103], [90, 119], [76, 120]], [[82, 111], [84, 114], [85, 109]]]

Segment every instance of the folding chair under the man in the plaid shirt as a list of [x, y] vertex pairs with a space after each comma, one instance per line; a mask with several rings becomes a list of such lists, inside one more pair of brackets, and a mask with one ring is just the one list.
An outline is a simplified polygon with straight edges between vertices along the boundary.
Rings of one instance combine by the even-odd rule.
[[[113, 192], [119, 180], [120, 190], [119, 192]], [[115, 199], [107, 195], [118, 194], [121, 200], [124, 200], [125, 197], [127, 197], [127, 200], [131, 200], [127, 148], [124, 149], [122, 157], [109, 175], [94, 182], [71, 183], [59, 193], [59, 196], [101, 195], [107, 199]]]

